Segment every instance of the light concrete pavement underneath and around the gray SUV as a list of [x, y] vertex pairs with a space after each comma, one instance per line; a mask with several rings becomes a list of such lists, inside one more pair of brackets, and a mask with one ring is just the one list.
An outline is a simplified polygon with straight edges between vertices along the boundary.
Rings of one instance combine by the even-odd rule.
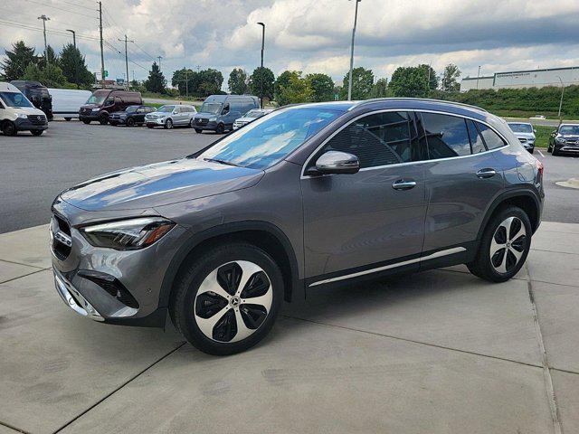
[[527, 267], [318, 290], [244, 354], [64, 306], [46, 226], [0, 235], [0, 434], [579, 432], [579, 224]]

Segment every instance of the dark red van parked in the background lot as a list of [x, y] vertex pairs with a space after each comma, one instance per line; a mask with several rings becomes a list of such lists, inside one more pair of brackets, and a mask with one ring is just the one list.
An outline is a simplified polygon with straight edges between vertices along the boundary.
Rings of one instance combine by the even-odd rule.
[[141, 106], [142, 104], [140, 92], [114, 89], [95, 90], [79, 110], [79, 119], [85, 124], [98, 120], [100, 125], [107, 125], [110, 113], [123, 111], [128, 106]]

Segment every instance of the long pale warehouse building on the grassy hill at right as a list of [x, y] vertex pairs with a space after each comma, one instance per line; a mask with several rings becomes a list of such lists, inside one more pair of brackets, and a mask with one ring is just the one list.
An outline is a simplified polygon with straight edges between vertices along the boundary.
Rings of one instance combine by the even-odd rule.
[[579, 66], [546, 70], [496, 72], [485, 77], [466, 77], [460, 82], [460, 91], [471, 89], [544, 88], [546, 86], [579, 85]]

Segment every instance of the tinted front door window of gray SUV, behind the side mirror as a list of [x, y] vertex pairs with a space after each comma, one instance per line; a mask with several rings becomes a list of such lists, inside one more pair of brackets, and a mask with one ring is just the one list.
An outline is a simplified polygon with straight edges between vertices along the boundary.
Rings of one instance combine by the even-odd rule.
[[355, 120], [327, 142], [324, 152], [353, 154], [365, 168], [419, 160], [417, 143], [413, 113], [384, 112]]

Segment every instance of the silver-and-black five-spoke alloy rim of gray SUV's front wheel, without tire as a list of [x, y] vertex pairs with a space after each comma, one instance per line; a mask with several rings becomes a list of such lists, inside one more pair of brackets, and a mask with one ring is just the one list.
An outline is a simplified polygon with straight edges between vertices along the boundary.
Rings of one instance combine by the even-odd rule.
[[217, 342], [238, 342], [252, 335], [271, 310], [273, 291], [259, 265], [238, 260], [214, 269], [195, 297], [195, 322]]

